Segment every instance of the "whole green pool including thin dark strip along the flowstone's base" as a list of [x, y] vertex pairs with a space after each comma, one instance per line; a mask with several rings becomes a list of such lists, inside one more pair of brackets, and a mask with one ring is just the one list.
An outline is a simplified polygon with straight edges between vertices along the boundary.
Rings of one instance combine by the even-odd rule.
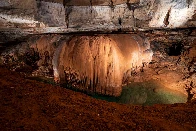
[[[43, 79], [40, 77], [31, 79], [55, 85], [54, 81], [51, 79]], [[174, 104], [185, 103], [187, 101], [186, 95], [167, 89], [163, 85], [157, 84], [156, 81], [130, 83], [123, 87], [122, 93], [119, 97], [88, 94], [87, 92], [71, 88], [70, 86], [62, 86], [73, 91], [83, 92], [96, 99], [129, 105]]]

